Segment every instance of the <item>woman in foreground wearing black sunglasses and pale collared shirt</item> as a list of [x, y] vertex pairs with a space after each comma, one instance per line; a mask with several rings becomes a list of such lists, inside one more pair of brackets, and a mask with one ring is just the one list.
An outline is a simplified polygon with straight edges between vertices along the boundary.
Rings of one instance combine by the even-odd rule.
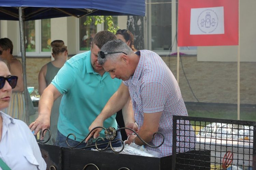
[[[0, 58], [0, 110], [9, 106], [18, 77]], [[40, 148], [27, 124], [0, 111], [0, 169], [46, 169]], [[7, 167], [6, 167], [7, 166]]]

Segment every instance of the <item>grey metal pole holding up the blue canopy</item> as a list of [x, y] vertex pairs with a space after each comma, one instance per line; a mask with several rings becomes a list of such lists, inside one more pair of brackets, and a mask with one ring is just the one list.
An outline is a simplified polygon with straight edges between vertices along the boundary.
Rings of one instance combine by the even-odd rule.
[[28, 104], [28, 88], [27, 88], [27, 73], [26, 73], [26, 52], [25, 52], [25, 34], [24, 34], [24, 17], [22, 7], [19, 7], [19, 31], [20, 31], [20, 48], [22, 52], [22, 70], [23, 70], [23, 82], [24, 82], [24, 95], [25, 95], [25, 108], [26, 108], [26, 120], [27, 125], [30, 124], [29, 120], [29, 104]]

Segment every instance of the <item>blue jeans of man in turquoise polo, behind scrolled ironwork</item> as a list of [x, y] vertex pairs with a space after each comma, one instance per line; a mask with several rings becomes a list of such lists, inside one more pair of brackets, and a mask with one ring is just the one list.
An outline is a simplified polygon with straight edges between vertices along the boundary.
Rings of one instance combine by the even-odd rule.
[[[119, 127], [117, 127], [119, 129]], [[71, 135], [72, 136], [72, 135]], [[57, 138], [56, 138], [56, 141], [54, 142], [53, 145], [55, 146], [59, 146], [59, 147], [65, 147], [65, 148], [69, 148], [69, 146], [67, 145], [67, 142], [66, 142], [66, 139], [67, 139], [67, 136], [64, 136], [62, 135], [59, 130], [57, 131]], [[115, 137], [114, 141], [117, 140], [117, 139], [122, 139], [121, 137], [121, 133], [120, 131], [117, 132], [117, 136]], [[97, 141], [97, 147], [99, 149], [104, 149], [106, 148], [106, 146], [108, 145], [107, 144], [104, 144], [104, 145], [98, 145], [100, 143], [106, 143], [106, 142], [109, 142], [108, 139], [105, 139], [105, 140], [98, 140]], [[73, 140], [73, 139], [70, 139], [68, 138], [68, 144], [72, 147], [78, 145], [80, 142], [79, 141], [76, 141], [76, 140]], [[91, 145], [95, 146], [95, 142], [93, 142]], [[90, 146], [91, 146], [90, 145]], [[116, 147], [121, 147], [122, 146], [122, 142], [121, 141], [117, 141], [117, 142], [112, 142], [111, 143], [112, 147], [113, 148], [116, 148]], [[83, 147], [86, 147], [86, 143], [85, 142], [82, 142], [79, 146], [77, 146], [76, 148], [79, 149], [79, 148], [83, 148]], [[91, 148], [93, 149], [96, 149], [96, 147], [90, 147], [90, 148], [85, 148], [87, 150], [91, 150]], [[110, 145], [109, 145], [109, 148], [110, 148]]]

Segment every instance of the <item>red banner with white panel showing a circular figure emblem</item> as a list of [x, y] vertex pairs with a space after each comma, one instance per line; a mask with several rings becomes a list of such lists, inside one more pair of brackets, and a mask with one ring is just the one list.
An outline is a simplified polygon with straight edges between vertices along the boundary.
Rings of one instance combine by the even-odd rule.
[[179, 0], [178, 46], [238, 45], [238, 16], [238, 0]]

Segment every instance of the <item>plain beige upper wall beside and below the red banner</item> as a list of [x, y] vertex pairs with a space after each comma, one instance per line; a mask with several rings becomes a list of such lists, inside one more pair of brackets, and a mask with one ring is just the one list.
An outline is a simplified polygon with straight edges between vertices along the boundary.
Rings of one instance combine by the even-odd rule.
[[[240, 0], [240, 61], [256, 62], [256, 1]], [[236, 62], [238, 46], [198, 47], [198, 61]]]

